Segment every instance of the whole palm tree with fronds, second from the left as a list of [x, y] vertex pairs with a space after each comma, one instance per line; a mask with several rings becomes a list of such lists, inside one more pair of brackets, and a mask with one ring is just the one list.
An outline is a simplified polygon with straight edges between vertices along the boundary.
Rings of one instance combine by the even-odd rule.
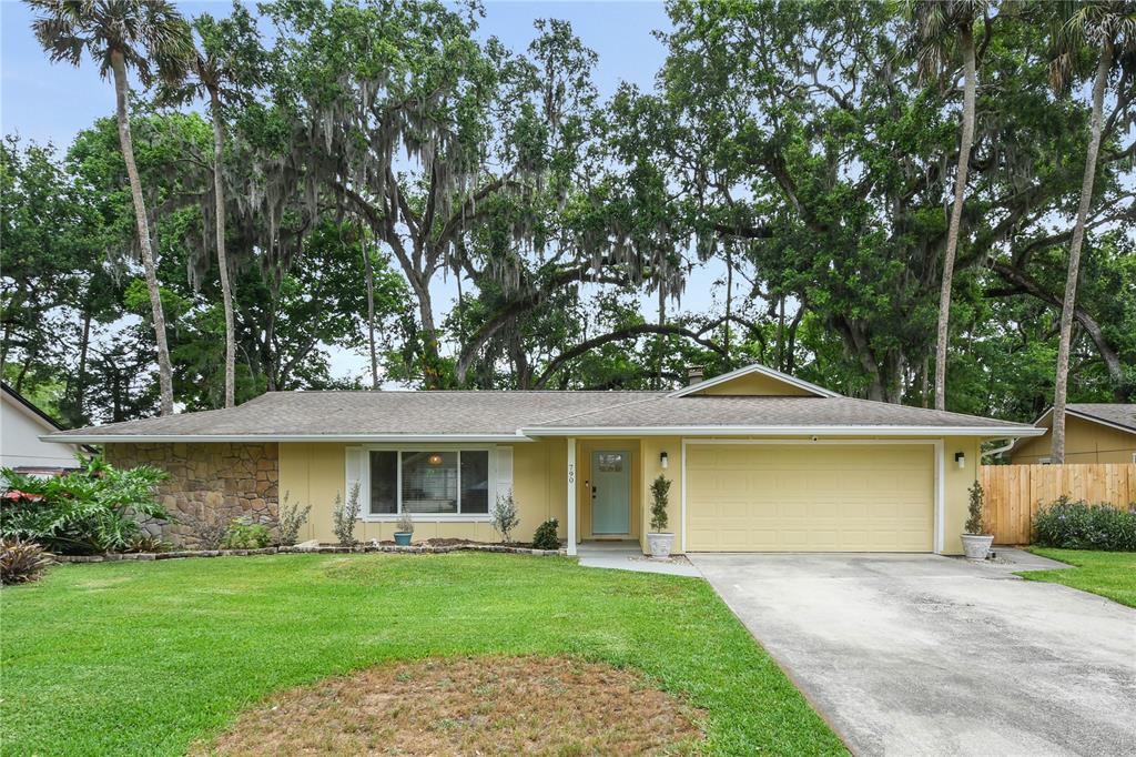
[[225, 309], [225, 407], [235, 405], [236, 396], [236, 325], [233, 315], [233, 285], [228, 276], [225, 249], [225, 101], [248, 99], [251, 88], [262, 83], [262, 49], [252, 16], [239, 2], [233, 15], [216, 20], [202, 14], [193, 23], [201, 38], [201, 49], [193, 63], [195, 78], [185, 97], [204, 97], [214, 132], [214, 223], [217, 238], [217, 267]]

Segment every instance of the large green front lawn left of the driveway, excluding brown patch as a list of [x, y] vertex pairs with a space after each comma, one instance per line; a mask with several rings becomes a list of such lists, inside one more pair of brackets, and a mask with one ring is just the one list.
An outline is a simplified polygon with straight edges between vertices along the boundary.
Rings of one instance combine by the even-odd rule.
[[509, 555], [281, 555], [62, 565], [0, 601], [5, 754], [182, 754], [281, 689], [484, 654], [640, 671], [705, 712], [708, 752], [844, 751], [692, 579]]

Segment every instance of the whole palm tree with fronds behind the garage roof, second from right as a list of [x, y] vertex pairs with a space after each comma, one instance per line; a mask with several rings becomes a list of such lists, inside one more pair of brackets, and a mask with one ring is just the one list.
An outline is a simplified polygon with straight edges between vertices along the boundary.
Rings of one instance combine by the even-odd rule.
[[938, 293], [938, 328], [935, 338], [935, 409], [946, 409], [946, 347], [950, 338], [951, 289], [954, 285], [954, 258], [959, 249], [962, 206], [967, 193], [970, 148], [975, 141], [975, 99], [978, 89], [975, 18], [979, 0], [918, 0], [910, 7], [916, 20], [919, 67], [924, 76], [937, 75], [947, 67], [952, 44], [962, 53], [962, 133], [959, 163], [954, 174], [954, 207], [946, 232], [943, 280]]

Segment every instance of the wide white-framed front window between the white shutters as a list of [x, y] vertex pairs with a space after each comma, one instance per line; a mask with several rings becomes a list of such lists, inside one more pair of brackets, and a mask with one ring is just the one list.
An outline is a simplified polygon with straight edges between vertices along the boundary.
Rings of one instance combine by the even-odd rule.
[[485, 515], [486, 450], [375, 450], [370, 452], [370, 514]]

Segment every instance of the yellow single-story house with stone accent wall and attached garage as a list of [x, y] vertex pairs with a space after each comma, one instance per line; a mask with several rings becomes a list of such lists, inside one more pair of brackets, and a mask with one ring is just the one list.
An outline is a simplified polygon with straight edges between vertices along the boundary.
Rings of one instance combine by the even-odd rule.
[[571, 554], [583, 540], [645, 547], [661, 474], [676, 551], [953, 555], [982, 442], [1041, 433], [753, 365], [676, 391], [269, 392], [48, 439], [167, 469], [161, 496], [186, 521], [311, 504], [301, 535], [320, 541], [358, 486], [364, 540], [390, 539], [409, 513], [418, 540], [494, 541], [490, 508], [511, 491], [524, 536], [557, 518]]

